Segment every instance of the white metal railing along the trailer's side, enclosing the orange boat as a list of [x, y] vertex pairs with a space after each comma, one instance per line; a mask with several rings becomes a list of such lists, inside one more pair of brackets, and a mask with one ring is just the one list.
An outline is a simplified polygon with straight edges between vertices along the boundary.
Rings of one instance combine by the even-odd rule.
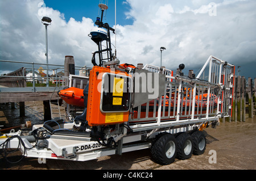
[[[158, 72], [157, 66], [144, 69]], [[171, 72], [171, 71], [170, 71]], [[201, 79], [207, 73], [208, 80]], [[166, 75], [164, 95], [135, 108], [131, 128], [217, 120], [232, 112], [234, 65], [210, 56], [196, 78]]]

